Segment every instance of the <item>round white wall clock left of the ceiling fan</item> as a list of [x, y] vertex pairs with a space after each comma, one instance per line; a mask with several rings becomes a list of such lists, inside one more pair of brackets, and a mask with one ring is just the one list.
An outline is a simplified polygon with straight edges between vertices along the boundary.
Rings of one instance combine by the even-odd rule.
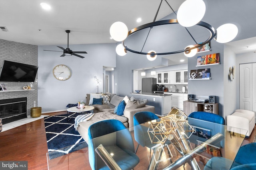
[[68, 66], [60, 64], [53, 68], [53, 76], [58, 80], [68, 80], [71, 77], [71, 71]]

